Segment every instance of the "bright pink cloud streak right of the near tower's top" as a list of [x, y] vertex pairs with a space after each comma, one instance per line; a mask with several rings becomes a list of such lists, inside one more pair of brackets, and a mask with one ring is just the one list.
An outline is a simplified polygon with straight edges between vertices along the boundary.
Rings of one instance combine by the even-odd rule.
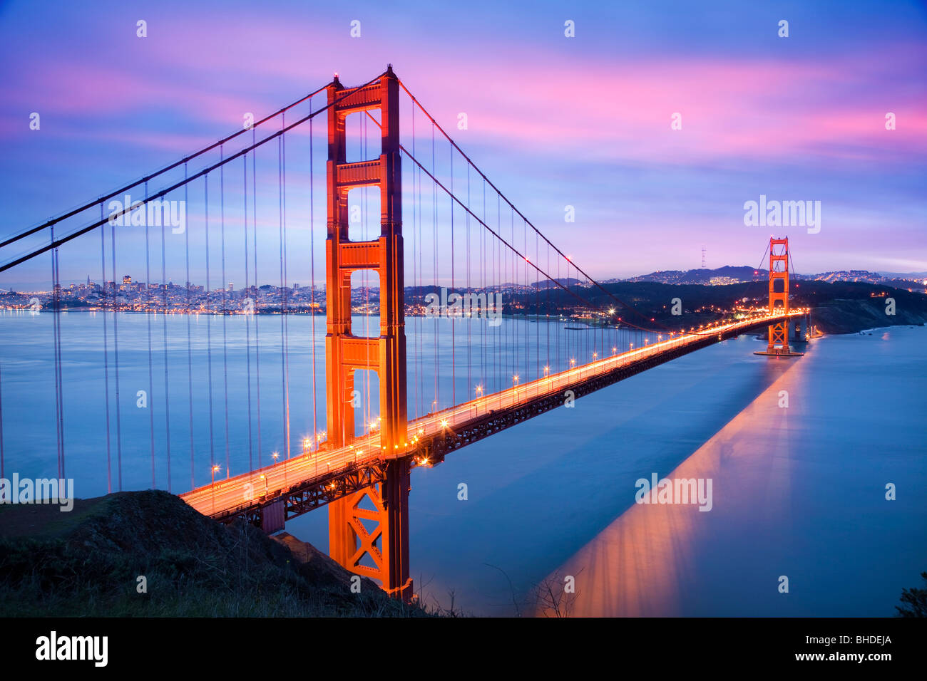
[[[642, 161], [747, 158], [883, 158], [927, 149], [927, 97], [899, 98], [878, 79], [858, 83], [860, 99], [844, 104], [834, 83], [848, 64], [638, 64], [602, 73], [550, 67], [527, 87], [479, 88], [478, 73], [455, 79], [450, 91], [466, 106], [463, 135], [537, 148], [565, 145], [588, 158]], [[434, 76], [438, 82], [438, 73]], [[430, 88], [432, 91], [434, 87]], [[886, 131], [894, 111], [898, 128]], [[681, 131], [670, 130], [679, 112]], [[450, 114], [450, 115], [449, 115]], [[443, 107], [442, 120], [454, 115]]]

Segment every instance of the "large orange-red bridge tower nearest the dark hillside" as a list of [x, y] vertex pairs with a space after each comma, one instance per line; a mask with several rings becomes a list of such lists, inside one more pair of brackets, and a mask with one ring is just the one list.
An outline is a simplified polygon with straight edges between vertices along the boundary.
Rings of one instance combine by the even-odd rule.
[[[359, 88], [345, 88], [336, 76], [327, 92], [327, 440], [335, 448], [354, 440], [354, 372], [375, 371], [386, 473], [384, 482], [329, 504], [329, 554], [351, 572], [378, 580], [391, 596], [409, 599], [409, 459], [399, 455], [407, 422], [399, 81], [390, 66], [378, 81]], [[346, 119], [375, 109], [380, 111], [380, 156], [348, 163]], [[380, 235], [350, 241], [348, 193], [363, 186], [380, 188]], [[374, 270], [379, 277], [379, 337], [351, 334], [350, 278], [359, 270]]]

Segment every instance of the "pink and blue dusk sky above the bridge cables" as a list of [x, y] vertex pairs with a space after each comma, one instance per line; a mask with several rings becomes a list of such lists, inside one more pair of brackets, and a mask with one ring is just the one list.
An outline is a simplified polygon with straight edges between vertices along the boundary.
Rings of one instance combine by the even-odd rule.
[[[94, 7], [0, 5], [2, 235], [240, 129], [243, 112], [260, 118], [336, 71], [355, 85], [391, 63], [597, 278], [697, 268], [703, 246], [708, 267], [756, 265], [774, 232], [791, 238], [802, 273], [927, 271], [921, 2]], [[677, 112], [682, 128], [671, 130]], [[819, 233], [745, 226], [743, 204], [760, 195], [820, 201]], [[324, 227], [324, 213], [316, 221]], [[42, 259], [35, 272], [46, 270]], [[0, 287], [42, 281], [10, 274]]]

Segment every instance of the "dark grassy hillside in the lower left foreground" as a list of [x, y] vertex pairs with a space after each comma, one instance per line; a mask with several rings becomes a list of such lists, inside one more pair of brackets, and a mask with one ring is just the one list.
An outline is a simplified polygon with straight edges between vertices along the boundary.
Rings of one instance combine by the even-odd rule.
[[216, 523], [164, 491], [0, 506], [0, 616], [425, 614], [368, 579], [352, 594], [350, 577], [295, 537]]

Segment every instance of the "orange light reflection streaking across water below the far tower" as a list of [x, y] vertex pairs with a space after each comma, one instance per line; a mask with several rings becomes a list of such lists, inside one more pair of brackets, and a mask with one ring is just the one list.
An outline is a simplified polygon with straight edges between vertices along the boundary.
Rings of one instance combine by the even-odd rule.
[[[686, 591], [704, 588], [694, 554], [713, 526], [747, 516], [754, 533], [768, 532], [769, 511], [788, 512], [800, 442], [789, 423], [791, 404], [779, 407], [780, 391], [795, 392], [803, 366], [796, 359], [781, 361], [788, 362], [787, 372], [674, 471], [659, 473], [670, 480], [711, 479], [710, 511], [699, 511], [697, 504], [634, 504], [550, 575], [558, 582], [576, 575], [576, 595], [566, 597], [573, 615], [687, 614]], [[538, 613], [551, 614], [544, 610]]]

